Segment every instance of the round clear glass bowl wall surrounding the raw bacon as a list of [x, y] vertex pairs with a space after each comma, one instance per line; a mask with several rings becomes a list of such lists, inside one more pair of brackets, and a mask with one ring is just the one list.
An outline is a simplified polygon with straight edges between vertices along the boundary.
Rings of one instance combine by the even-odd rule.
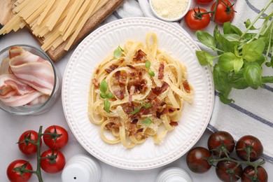
[[54, 85], [53, 85], [52, 92], [51, 92], [50, 96], [48, 97], [48, 99], [41, 104], [33, 104], [33, 105], [26, 104], [24, 106], [8, 106], [8, 105], [4, 104], [3, 102], [1, 102], [1, 100], [0, 100], [0, 109], [2, 109], [3, 111], [6, 111], [8, 113], [18, 115], [18, 116], [38, 115], [38, 114], [44, 113], [45, 111], [48, 111], [48, 109], [50, 109], [50, 107], [55, 103], [55, 101], [57, 100], [57, 98], [60, 94], [62, 84], [60, 83], [61, 76], [60, 76], [59, 70], [55, 67], [52, 60], [50, 59], [50, 57], [48, 57], [48, 55], [45, 54], [45, 52], [43, 52], [42, 50], [38, 50], [37, 48], [35, 48], [31, 45], [25, 45], [25, 44], [10, 45], [9, 47], [1, 50], [0, 51], [0, 65], [1, 65], [1, 62], [3, 61], [3, 59], [9, 56], [8, 50], [14, 46], [19, 46], [22, 49], [29, 51], [34, 55], [38, 55], [39, 57], [50, 62], [50, 65], [52, 66], [52, 69], [54, 72]]

